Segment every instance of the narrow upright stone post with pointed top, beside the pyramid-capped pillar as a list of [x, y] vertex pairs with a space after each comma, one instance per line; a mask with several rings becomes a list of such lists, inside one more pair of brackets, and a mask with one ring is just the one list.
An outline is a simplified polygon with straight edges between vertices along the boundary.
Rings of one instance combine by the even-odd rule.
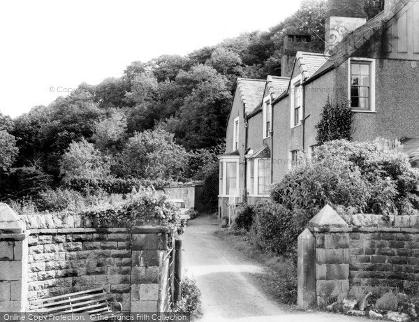
[[316, 238], [308, 228], [298, 236], [298, 295], [300, 309], [316, 304]]

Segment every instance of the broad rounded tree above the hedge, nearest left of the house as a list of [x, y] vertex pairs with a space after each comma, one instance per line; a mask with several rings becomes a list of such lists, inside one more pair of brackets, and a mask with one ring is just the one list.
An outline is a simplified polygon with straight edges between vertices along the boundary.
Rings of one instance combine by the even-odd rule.
[[186, 151], [162, 129], [144, 131], [128, 139], [120, 163], [126, 177], [176, 180], [184, 172]]

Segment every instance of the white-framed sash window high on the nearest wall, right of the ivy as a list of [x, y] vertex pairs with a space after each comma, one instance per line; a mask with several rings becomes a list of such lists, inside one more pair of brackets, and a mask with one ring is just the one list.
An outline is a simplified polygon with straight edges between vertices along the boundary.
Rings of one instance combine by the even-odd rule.
[[349, 59], [349, 101], [358, 111], [375, 111], [375, 61]]

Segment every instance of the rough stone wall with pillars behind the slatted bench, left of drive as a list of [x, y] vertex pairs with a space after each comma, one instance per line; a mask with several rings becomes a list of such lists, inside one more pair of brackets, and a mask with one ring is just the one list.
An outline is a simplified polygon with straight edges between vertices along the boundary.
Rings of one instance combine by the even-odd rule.
[[[3, 229], [10, 222], [17, 228]], [[128, 232], [95, 224], [74, 214], [19, 217], [0, 204], [0, 312], [22, 312], [31, 300], [96, 287], [124, 312], [158, 312], [163, 258], [172, 242], [167, 229]]]

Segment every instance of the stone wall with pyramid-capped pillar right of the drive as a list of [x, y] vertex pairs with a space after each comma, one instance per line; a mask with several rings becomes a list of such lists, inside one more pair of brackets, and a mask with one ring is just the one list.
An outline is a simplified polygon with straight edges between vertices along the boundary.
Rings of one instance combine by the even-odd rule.
[[[315, 293], [320, 304], [325, 296], [347, 293], [353, 287], [390, 286], [402, 290], [419, 281], [418, 216], [390, 216], [385, 220], [383, 216], [358, 214], [343, 218], [326, 206], [310, 221], [314, 254], [302, 254], [299, 249], [299, 261], [304, 258], [304, 263], [314, 266], [315, 283], [304, 284], [314, 285], [315, 289], [300, 286], [301, 299], [314, 301], [302, 294]], [[309, 249], [309, 233], [300, 235], [299, 240], [306, 243], [299, 244], [300, 248]], [[310, 256], [314, 261], [307, 259]], [[300, 306], [307, 306], [301, 301]]]

